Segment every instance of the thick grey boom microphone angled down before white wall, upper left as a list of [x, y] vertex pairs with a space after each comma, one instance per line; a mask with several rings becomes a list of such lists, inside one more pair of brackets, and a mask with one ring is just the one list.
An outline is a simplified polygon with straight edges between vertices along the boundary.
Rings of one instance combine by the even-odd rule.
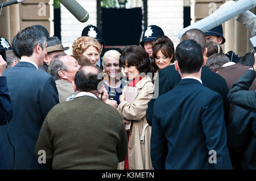
[[81, 5], [79, 5], [79, 3], [76, 2], [76, 0], [59, 0], [59, 1], [80, 22], [85, 23], [89, 19], [88, 12]]

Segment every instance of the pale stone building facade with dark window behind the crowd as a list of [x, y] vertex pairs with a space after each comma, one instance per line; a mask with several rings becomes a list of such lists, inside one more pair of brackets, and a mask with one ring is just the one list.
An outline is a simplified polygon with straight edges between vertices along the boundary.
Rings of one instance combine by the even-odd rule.
[[[0, 0], [0, 3], [5, 1]], [[101, 16], [101, 0], [77, 0], [77, 2], [89, 12], [90, 18], [85, 23], [79, 22], [71, 12], [63, 5], [60, 5], [60, 36], [64, 47], [71, 47], [67, 51], [68, 54], [72, 54], [73, 41], [81, 36], [85, 26], [93, 24], [101, 28], [102, 23], [99, 18]], [[176, 47], [179, 44], [178, 33], [184, 28], [185, 22], [191, 19], [191, 23], [195, 23], [205, 18], [224, 2], [225, 0], [127, 0], [126, 8], [141, 7], [144, 17], [142, 20], [142, 32], [145, 26], [155, 24], [163, 29]], [[185, 13], [188, 8], [189, 11], [191, 10], [190, 16], [188, 12]], [[226, 43], [222, 45], [222, 48], [224, 52], [233, 50], [243, 56], [243, 54], [250, 52], [252, 49], [249, 41], [250, 33], [235, 19], [230, 19], [222, 24], [226, 39]], [[6, 37], [9, 42], [19, 30], [32, 24], [42, 24], [53, 36], [53, 0], [26, 0], [18, 5], [3, 7], [0, 22], [4, 27], [0, 30], [0, 36]]]

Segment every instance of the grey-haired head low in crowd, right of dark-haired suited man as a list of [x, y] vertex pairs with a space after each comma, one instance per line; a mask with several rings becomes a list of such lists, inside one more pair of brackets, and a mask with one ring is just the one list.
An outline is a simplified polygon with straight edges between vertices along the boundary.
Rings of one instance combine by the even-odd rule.
[[[229, 58], [223, 53], [214, 53], [210, 56], [205, 64], [210, 70], [218, 72], [218, 69], [221, 68], [224, 64], [230, 62]], [[233, 64], [233, 62], [230, 62]]]

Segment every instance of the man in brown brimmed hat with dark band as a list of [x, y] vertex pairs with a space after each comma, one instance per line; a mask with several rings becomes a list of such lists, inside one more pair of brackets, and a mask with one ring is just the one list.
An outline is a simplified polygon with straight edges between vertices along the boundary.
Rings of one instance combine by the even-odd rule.
[[43, 66], [39, 67], [40, 70], [44, 70], [46, 72], [48, 70], [48, 66], [52, 58], [57, 54], [65, 53], [64, 50], [69, 49], [69, 47], [64, 48], [63, 45], [61, 44], [61, 41], [56, 36], [49, 37], [47, 40], [47, 44], [48, 44], [46, 47], [47, 55], [44, 57], [44, 64]]

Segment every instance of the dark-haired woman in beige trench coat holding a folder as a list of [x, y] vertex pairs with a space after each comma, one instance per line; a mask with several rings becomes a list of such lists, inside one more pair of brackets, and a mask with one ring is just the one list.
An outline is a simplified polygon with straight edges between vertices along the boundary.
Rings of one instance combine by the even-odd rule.
[[120, 104], [117, 110], [123, 117], [128, 138], [128, 151], [125, 162], [119, 163], [118, 169], [152, 169], [150, 158], [151, 127], [147, 124], [147, 103], [152, 98], [154, 85], [147, 73], [150, 60], [147, 52], [137, 45], [131, 45], [123, 50], [119, 58], [119, 65], [129, 79], [128, 87], [134, 87], [135, 99], [133, 103], [127, 102], [125, 92], [119, 96]]

